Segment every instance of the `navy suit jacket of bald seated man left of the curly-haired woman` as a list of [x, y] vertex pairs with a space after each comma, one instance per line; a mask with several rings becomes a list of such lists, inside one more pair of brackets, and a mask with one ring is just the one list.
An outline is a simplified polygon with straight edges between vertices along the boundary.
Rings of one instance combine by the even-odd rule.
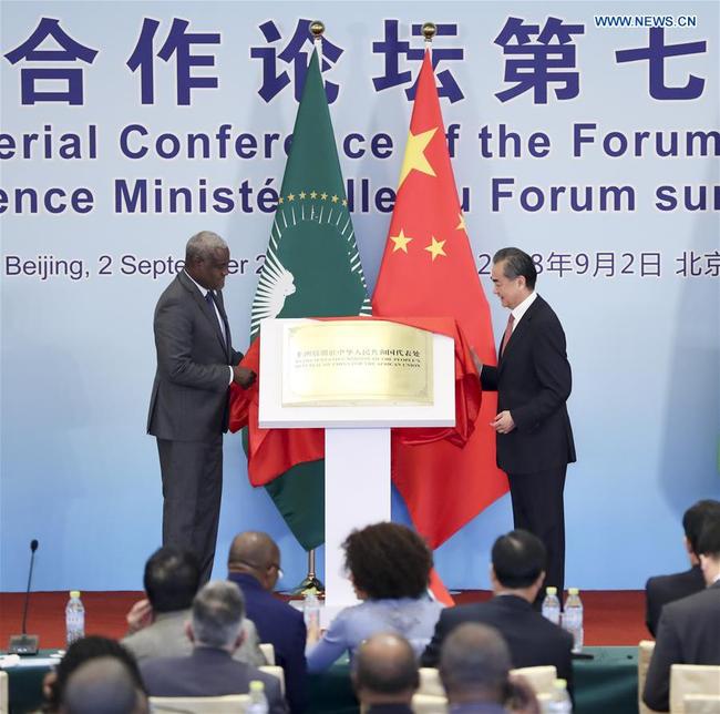
[[299, 610], [278, 600], [247, 573], [229, 573], [245, 595], [245, 616], [257, 628], [260, 642], [275, 647], [275, 662], [285, 670], [285, 691], [290, 711], [302, 712], [306, 705], [305, 645], [307, 630]]

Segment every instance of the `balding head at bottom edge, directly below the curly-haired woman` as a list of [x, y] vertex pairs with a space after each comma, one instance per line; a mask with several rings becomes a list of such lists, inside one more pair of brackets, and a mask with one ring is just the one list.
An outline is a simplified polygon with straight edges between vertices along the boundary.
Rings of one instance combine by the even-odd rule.
[[356, 653], [351, 677], [366, 714], [412, 714], [420, 675], [415, 653], [402, 635], [380, 632], [366, 640]]

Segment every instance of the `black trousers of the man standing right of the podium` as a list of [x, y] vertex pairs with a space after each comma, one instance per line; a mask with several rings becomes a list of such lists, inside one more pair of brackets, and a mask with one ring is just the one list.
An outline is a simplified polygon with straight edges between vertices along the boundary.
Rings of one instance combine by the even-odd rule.
[[[555, 585], [562, 600], [565, 588], [565, 509], [563, 465], [534, 473], [508, 473], [515, 528], [535, 533], [547, 549], [545, 586]], [[538, 599], [544, 596], [544, 589]]]

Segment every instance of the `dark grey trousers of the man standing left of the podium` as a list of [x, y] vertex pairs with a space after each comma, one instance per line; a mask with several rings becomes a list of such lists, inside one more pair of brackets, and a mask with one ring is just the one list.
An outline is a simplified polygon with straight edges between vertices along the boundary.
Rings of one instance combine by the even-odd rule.
[[213, 441], [157, 439], [163, 475], [163, 545], [195, 554], [205, 583], [213, 572], [223, 496], [223, 436]]

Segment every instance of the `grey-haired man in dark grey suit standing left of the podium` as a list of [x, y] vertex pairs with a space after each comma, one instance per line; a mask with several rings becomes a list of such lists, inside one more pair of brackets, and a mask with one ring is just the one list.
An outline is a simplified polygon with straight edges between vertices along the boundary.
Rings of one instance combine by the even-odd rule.
[[157, 439], [163, 476], [163, 545], [194, 553], [202, 582], [213, 571], [223, 492], [223, 432], [229, 386], [244, 388], [255, 374], [233, 349], [222, 288], [229, 249], [204, 231], [185, 251], [185, 269], [157, 300], [154, 330], [157, 370], [147, 432]]

